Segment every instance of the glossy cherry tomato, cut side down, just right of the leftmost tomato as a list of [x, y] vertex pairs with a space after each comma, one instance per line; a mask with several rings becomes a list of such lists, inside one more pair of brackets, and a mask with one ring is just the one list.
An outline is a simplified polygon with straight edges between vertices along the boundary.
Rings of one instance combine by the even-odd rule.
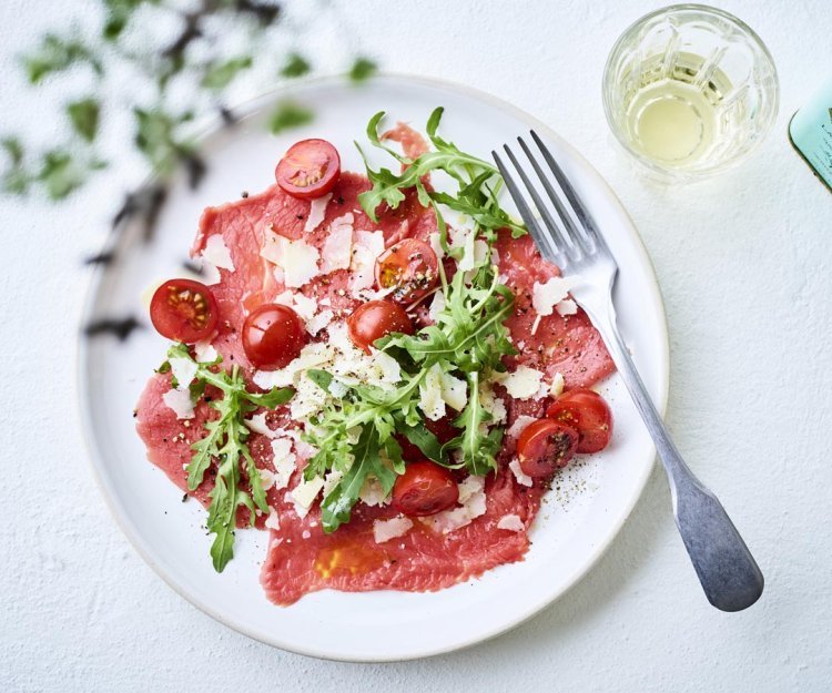
[[303, 320], [288, 306], [267, 303], [243, 324], [243, 349], [252, 366], [276, 370], [301, 354], [306, 344]]

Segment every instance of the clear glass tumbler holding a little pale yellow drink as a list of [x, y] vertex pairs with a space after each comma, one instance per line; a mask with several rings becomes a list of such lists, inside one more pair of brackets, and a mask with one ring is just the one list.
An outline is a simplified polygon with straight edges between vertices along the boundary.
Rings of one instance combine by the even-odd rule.
[[760, 37], [702, 4], [642, 17], [612, 48], [603, 72], [612, 133], [668, 181], [706, 177], [744, 159], [774, 123], [779, 94]]

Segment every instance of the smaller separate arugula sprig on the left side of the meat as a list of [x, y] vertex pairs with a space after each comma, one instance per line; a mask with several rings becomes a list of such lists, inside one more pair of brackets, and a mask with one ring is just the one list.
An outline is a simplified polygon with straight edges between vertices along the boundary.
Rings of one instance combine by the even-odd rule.
[[[265, 394], [250, 393], [239, 366], [234, 366], [230, 373], [222, 369], [214, 371], [221, 358], [210, 364], [195, 361], [184, 344], [173, 345], [168, 350], [168, 358], [191, 360], [196, 366], [194, 379], [197, 389], [204, 390], [205, 386], [211, 385], [223, 394], [222, 398], [211, 400], [209, 406], [216, 410], [219, 416], [205, 422], [205, 436], [191, 446], [193, 455], [185, 468], [187, 489], [194, 491], [204, 481], [205, 472], [211, 465], [217, 463], [214, 488], [210, 493], [211, 506], [206, 524], [209, 532], [214, 534], [211, 546], [214, 570], [222, 572], [234, 557], [237, 509], [248, 509], [252, 524], [255, 510], [268, 511], [260, 471], [246, 444], [250, 431], [244, 422], [245, 416], [258, 407], [274, 408], [285, 404], [292, 398], [294, 390], [272, 388]], [[165, 361], [159, 368], [159, 373], [168, 370], [170, 361]], [[241, 486], [243, 471], [248, 481], [248, 490]]]

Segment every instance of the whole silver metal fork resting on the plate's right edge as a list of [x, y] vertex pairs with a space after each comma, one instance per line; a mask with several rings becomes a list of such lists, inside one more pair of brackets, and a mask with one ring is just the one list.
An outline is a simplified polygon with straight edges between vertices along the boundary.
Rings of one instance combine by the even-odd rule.
[[[589, 315], [603, 338], [612, 361], [645, 420], [670, 482], [676, 524], [708, 601], [722, 611], [747, 609], [762, 594], [762, 572], [722, 505], [693, 476], [670, 439], [616, 324], [612, 305], [612, 289], [618, 275], [616, 258], [555, 157], [534, 131], [530, 134], [538, 154], [521, 137], [517, 141], [539, 181], [538, 187], [532, 184], [529, 177], [531, 174], [520, 165], [509, 146], [504, 145], [504, 149], [531, 198], [531, 204], [539, 212], [539, 220], [500, 155], [491, 152], [497, 167], [540, 254], [572, 281], [572, 298]], [[545, 192], [558, 221], [545, 204], [539, 187]]]

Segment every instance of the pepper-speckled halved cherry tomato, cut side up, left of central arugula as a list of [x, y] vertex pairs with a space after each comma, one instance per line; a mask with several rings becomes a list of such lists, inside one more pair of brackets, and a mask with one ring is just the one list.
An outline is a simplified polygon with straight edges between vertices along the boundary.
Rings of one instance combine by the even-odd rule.
[[439, 261], [424, 241], [405, 238], [376, 259], [379, 289], [395, 287], [390, 298], [405, 305], [424, 298], [439, 279]]

